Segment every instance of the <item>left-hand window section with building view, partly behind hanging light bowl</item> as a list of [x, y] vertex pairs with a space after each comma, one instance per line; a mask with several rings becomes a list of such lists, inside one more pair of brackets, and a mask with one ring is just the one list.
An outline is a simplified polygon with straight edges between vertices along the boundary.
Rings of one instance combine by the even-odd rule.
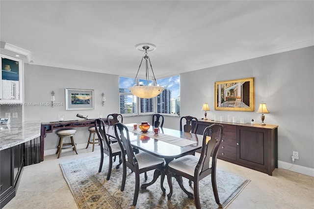
[[[147, 85], [145, 79], [137, 80], [139, 85]], [[150, 82], [153, 82], [150, 80]], [[120, 92], [120, 113], [121, 114], [136, 114], [136, 113], [153, 113], [154, 98], [142, 99], [137, 98], [131, 94], [129, 87], [133, 86], [134, 78], [119, 78], [119, 92]], [[139, 104], [139, 105], [137, 105]]]

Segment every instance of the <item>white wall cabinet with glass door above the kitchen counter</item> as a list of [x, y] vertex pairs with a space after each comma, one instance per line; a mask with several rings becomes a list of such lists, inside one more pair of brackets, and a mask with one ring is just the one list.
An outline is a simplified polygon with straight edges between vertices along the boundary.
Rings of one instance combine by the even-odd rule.
[[23, 60], [1, 54], [0, 103], [23, 103]]

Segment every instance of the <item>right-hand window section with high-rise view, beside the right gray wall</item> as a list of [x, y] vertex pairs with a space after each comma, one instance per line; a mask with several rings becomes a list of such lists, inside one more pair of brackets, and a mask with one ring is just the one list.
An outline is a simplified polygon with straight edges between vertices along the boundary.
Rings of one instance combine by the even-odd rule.
[[157, 79], [164, 90], [157, 96], [157, 113], [180, 115], [180, 76]]

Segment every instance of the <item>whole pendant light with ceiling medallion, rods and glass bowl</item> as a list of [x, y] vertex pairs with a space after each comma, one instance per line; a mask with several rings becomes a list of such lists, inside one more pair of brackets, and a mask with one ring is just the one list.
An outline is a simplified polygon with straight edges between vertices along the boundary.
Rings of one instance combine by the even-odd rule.
[[[130, 87], [129, 90], [131, 91], [131, 93], [134, 96], [139, 97], [139, 98], [143, 98], [143, 99], [154, 98], [157, 95], [159, 95], [164, 89], [164, 87], [162, 87], [162, 86], [157, 86], [157, 81], [156, 81], [155, 74], [153, 71], [152, 63], [151, 63], [149, 56], [147, 55], [147, 51], [155, 50], [156, 46], [154, 44], [137, 44], [137, 45], [135, 45], [135, 48], [139, 51], [145, 52], [145, 55], [142, 57], [142, 60], [139, 64], [139, 67], [138, 67], [138, 70], [137, 70], [137, 73], [135, 76], [135, 82], [136, 82], [136, 78], [137, 78], [139, 69], [141, 68], [143, 59], [145, 59], [146, 85], [145, 85], [145, 83], [144, 83], [144, 85], [134, 85], [134, 86]], [[148, 62], [149, 62], [149, 65], [151, 66], [151, 69], [152, 69], [152, 73], [153, 73], [153, 77], [154, 77], [153, 82], [155, 81], [156, 85], [154, 85], [154, 83], [149, 82]]]

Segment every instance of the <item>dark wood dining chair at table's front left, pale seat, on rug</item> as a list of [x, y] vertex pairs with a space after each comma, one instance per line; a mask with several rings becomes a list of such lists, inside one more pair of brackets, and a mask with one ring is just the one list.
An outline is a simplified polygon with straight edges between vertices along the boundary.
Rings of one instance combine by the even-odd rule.
[[[153, 156], [151, 154], [140, 152], [134, 155], [128, 128], [122, 123], [116, 123], [114, 125], [114, 131], [116, 134], [117, 141], [120, 145], [120, 148], [125, 147], [125, 150], [122, 149], [122, 162], [123, 162], [123, 177], [121, 184], [121, 191], [124, 190], [126, 178], [127, 178], [127, 167], [135, 173], [135, 191], [133, 197], [133, 206], [137, 203], [138, 193], [139, 193], [139, 175], [141, 173], [150, 171], [150, 170], [159, 170], [161, 173], [160, 187], [163, 195], [165, 194], [165, 188], [162, 183], [165, 178], [164, 172], [164, 159]], [[127, 155], [127, 158], [126, 158]], [[154, 175], [154, 178], [155, 177]]]

